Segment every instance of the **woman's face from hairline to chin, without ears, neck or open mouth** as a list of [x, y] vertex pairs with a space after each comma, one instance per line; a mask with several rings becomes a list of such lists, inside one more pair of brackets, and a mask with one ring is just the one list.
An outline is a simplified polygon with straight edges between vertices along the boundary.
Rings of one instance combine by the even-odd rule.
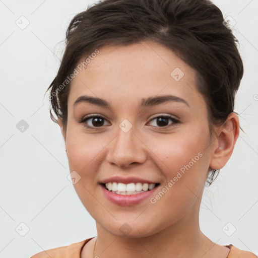
[[[143, 237], [190, 220], [199, 212], [213, 146], [196, 72], [152, 41], [98, 50], [77, 69], [63, 132], [79, 198], [104, 230], [120, 236], [123, 227], [128, 237]], [[112, 176], [159, 185], [138, 203], [118, 204], [100, 184]]]

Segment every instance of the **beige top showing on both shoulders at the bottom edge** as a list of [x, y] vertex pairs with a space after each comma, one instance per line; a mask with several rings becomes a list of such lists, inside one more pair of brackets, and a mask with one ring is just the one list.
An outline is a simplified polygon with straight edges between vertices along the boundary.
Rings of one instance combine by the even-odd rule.
[[[53, 249], [48, 249], [39, 252], [30, 258], [81, 258], [83, 246], [92, 238], [85, 239], [78, 243], [73, 243], [67, 246], [61, 246]], [[227, 258], [257, 258], [258, 256], [252, 252], [244, 251], [236, 248], [232, 244], [224, 245], [230, 249]], [[89, 257], [91, 258], [91, 257]]]

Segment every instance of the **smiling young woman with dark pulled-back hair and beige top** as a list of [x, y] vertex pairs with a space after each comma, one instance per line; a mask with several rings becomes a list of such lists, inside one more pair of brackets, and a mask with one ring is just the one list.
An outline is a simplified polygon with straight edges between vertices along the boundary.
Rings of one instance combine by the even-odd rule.
[[106, 0], [78, 14], [49, 99], [97, 236], [39, 257], [257, 257], [200, 230], [239, 135], [243, 64], [207, 0]]

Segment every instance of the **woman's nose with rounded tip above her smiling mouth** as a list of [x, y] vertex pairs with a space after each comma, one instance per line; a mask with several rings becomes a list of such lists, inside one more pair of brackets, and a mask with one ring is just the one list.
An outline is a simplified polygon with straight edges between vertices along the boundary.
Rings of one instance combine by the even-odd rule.
[[144, 163], [148, 148], [140, 138], [134, 126], [128, 132], [118, 127], [117, 135], [108, 148], [107, 161], [121, 168]]

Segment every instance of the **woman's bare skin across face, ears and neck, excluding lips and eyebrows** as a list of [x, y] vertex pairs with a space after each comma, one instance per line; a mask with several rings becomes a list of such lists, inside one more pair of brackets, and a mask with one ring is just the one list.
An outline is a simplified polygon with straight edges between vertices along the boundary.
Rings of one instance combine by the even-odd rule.
[[[81, 176], [75, 189], [96, 221], [94, 257], [171, 257], [173, 253], [173, 257], [225, 258], [229, 249], [200, 230], [199, 210], [209, 170], [222, 168], [233, 152], [239, 134], [237, 115], [231, 113], [215, 127], [211, 138], [195, 70], [163, 45], [143, 41], [99, 51], [72, 81], [66, 129], [58, 119], [70, 171]], [[175, 68], [184, 73], [179, 81], [170, 75]], [[138, 106], [142, 98], [166, 94], [183, 98], [189, 106], [172, 101]], [[86, 102], [73, 106], [82, 95], [103, 98], [112, 110]], [[102, 116], [102, 127], [92, 118], [84, 123], [93, 129], [79, 123], [89, 114]], [[157, 119], [161, 115], [171, 115], [179, 123], [168, 119], [164, 127]], [[127, 133], [119, 127], [124, 119], [132, 124]], [[159, 182], [161, 190], [198, 153], [202, 157], [155, 204], [146, 199], [134, 206], [115, 205], [98, 184], [110, 176], [138, 176]], [[124, 223], [131, 228], [128, 235], [119, 230]], [[93, 257], [95, 240], [85, 245], [83, 258]]]

